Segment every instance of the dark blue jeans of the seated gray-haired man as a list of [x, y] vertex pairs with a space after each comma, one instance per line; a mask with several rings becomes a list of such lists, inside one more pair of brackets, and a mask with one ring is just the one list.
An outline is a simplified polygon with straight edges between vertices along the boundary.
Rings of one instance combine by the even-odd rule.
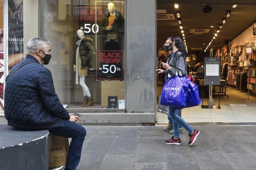
[[65, 127], [50, 128], [49, 132], [57, 136], [72, 138], [68, 149], [65, 170], [75, 170], [81, 158], [86, 130], [81, 125], [69, 120], [64, 120], [64, 124]]

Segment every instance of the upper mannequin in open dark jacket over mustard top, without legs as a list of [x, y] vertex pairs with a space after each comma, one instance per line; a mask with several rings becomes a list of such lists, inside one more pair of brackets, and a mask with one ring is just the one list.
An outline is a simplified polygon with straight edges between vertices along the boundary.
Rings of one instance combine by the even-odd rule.
[[105, 41], [104, 50], [122, 50], [124, 17], [115, 10], [114, 3], [108, 3], [108, 13], [101, 20], [99, 29], [103, 33], [103, 41]]

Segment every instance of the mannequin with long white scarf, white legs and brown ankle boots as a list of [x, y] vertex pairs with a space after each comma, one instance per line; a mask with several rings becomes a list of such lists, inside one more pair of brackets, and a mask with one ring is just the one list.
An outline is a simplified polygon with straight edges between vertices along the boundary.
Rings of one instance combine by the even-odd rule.
[[88, 67], [94, 48], [92, 46], [92, 38], [85, 37], [83, 30], [77, 30], [77, 36], [79, 40], [76, 42], [76, 57], [73, 62], [73, 68], [76, 72], [76, 84], [78, 84], [79, 77], [79, 84], [84, 93], [84, 103], [82, 106], [91, 106], [94, 101], [88, 87], [85, 85], [85, 76], [88, 74]]

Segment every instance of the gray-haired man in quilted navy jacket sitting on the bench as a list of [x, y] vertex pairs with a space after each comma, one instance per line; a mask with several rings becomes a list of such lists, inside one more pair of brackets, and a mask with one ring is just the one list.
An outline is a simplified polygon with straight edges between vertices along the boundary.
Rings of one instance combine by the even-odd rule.
[[4, 116], [8, 125], [23, 130], [48, 129], [58, 136], [72, 138], [65, 170], [76, 169], [86, 130], [76, 124], [60, 103], [53, 86], [52, 73], [43, 65], [51, 59], [51, 43], [44, 38], [28, 42], [27, 56], [6, 77]]

